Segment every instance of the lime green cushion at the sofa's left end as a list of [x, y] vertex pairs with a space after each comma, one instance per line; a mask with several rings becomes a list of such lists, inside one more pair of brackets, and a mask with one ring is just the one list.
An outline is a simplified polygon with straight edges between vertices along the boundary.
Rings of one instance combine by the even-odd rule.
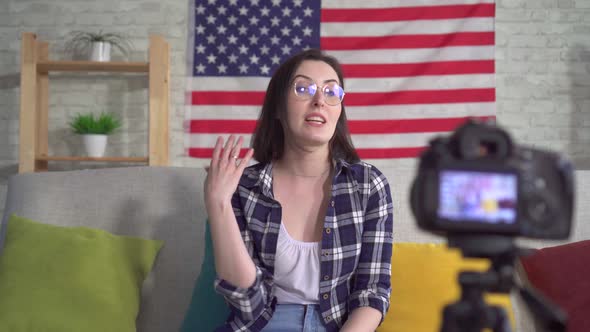
[[0, 331], [135, 331], [162, 241], [12, 215], [0, 256]]

